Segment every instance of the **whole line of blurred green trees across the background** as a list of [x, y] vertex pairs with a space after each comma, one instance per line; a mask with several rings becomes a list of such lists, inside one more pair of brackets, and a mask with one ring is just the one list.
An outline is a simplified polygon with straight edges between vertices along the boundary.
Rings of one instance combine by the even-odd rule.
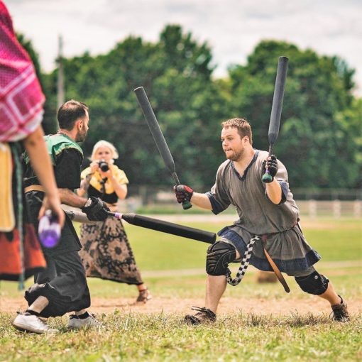
[[[27, 43], [31, 56], [38, 57]], [[280, 136], [274, 152], [287, 166], [292, 187], [362, 186], [362, 99], [339, 57], [263, 40], [245, 65], [213, 77], [212, 50], [181, 26], [165, 26], [157, 43], [129, 36], [109, 53], [63, 59], [66, 99], [89, 105], [89, 156], [99, 139], [114, 143], [133, 185], [170, 185], [133, 89], [143, 86], [168, 141], [181, 182], [210, 187], [224, 160], [221, 121], [248, 119], [253, 146], [268, 149], [268, 125], [278, 57], [290, 58]], [[55, 131], [57, 70], [40, 74], [47, 99], [43, 125]]]

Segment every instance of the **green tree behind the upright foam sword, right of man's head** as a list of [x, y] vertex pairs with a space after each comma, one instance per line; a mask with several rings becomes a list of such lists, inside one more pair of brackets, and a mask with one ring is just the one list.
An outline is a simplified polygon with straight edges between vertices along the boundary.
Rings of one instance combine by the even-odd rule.
[[290, 63], [275, 153], [287, 165], [292, 185], [353, 187], [359, 169], [356, 153], [339, 139], [350, 129], [340, 114], [351, 107], [353, 70], [338, 57], [319, 56], [290, 43], [262, 41], [245, 67], [230, 70], [232, 109], [251, 120], [256, 147], [268, 149], [280, 55], [289, 57]]

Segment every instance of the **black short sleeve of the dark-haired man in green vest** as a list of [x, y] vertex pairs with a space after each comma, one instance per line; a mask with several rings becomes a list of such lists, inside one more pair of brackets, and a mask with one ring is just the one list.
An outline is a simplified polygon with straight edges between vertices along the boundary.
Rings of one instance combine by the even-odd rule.
[[82, 155], [75, 148], [63, 150], [57, 157], [55, 180], [59, 189], [75, 190], [80, 187], [80, 166]]

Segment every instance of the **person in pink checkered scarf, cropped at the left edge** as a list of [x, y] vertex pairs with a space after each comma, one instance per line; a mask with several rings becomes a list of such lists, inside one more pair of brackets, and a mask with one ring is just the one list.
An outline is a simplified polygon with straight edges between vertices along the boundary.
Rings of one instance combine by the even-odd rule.
[[18, 43], [9, 11], [0, 1], [0, 280], [23, 280], [45, 267], [22, 190], [21, 145], [31, 159], [46, 199], [62, 226], [65, 215], [55, 184], [43, 128], [45, 97], [26, 50]]

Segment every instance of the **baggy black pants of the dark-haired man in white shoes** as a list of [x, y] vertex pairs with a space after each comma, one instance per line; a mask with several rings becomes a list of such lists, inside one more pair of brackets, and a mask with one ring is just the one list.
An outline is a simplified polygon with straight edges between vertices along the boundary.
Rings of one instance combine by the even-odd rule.
[[45, 318], [88, 308], [89, 289], [78, 252], [45, 255], [45, 260], [47, 268], [35, 274], [35, 284], [25, 292], [28, 305], [40, 296], [46, 297], [49, 304], [40, 312]]

